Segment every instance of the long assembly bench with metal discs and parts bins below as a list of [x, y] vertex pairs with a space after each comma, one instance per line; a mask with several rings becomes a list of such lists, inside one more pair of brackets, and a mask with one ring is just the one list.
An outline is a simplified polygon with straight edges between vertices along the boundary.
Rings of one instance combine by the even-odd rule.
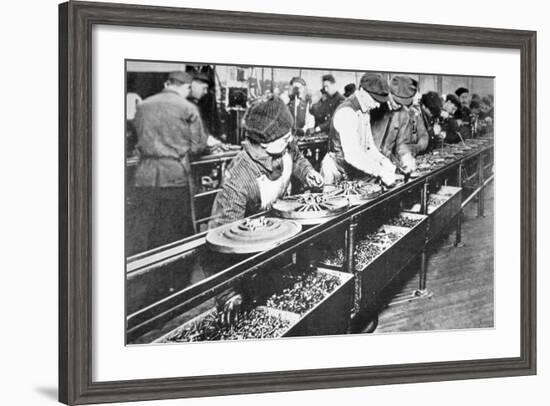
[[[286, 196], [272, 209], [127, 258], [128, 344], [372, 332], [392, 299], [429, 300], [427, 249], [462, 210], [484, 214], [492, 135], [417, 157], [393, 187], [374, 178]], [[385, 295], [418, 263], [418, 288]], [[218, 299], [242, 292], [227, 320]]]

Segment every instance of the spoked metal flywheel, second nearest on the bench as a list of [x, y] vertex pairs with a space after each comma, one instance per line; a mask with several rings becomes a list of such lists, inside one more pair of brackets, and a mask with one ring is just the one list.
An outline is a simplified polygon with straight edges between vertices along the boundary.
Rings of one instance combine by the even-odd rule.
[[345, 197], [330, 196], [327, 193], [304, 193], [288, 196], [273, 203], [273, 213], [301, 224], [319, 224], [344, 213], [349, 207]]

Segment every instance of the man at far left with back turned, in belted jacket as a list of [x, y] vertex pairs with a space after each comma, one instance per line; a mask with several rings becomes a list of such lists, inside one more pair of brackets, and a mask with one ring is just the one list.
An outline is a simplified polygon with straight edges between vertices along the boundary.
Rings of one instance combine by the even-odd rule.
[[186, 72], [171, 72], [164, 89], [137, 107], [135, 252], [193, 234], [189, 174], [207, 135], [197, 106], [187, 100], [192, 81]]

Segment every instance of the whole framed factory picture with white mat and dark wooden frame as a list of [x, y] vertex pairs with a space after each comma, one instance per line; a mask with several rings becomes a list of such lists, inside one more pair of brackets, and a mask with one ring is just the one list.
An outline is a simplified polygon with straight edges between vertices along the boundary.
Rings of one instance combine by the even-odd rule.
[[536, 33], [59, 6], [59, 400], [536, 373]]

